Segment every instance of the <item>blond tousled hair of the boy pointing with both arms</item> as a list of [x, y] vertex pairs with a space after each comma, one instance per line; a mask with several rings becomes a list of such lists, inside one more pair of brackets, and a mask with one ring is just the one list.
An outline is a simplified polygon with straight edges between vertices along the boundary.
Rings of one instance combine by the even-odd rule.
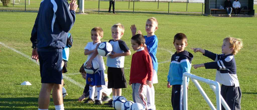
[[242, 39], [233, 38], [233, 37], [226, 37], [223, 39], [223, 41], [228, 41], [230, 44], [230, 48], [233, 48], [233, 55], [236, 55], [236, 53], [243, 48], [243, 42]]

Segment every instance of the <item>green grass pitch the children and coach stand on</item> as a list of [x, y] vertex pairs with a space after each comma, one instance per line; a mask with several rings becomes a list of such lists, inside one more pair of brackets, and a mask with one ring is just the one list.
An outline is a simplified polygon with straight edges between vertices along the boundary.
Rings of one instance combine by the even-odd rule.
[[[0, 109], [1, 110], [30, 110], [37, 109], [38, 95], [41, 88], [39, 66], [29, 58], [31, 56], [31, 30], [37, 13], [0, 12]], [[78, 102], [81, 96], [85, 80], [78, 74], [79, 68], [85, 62], [84, 47], [90, 42], [90, 30], [100, 26], [104, 30], [104, 37], [101, 41], [108, 41], [111, 38], [111, 26], [122, 23], [125, 26], [125, 33], [122, 37], [128, 47], [131, 48], [130, 26], [135, 24], [143, 34], [145, 21], [149, 17], [156, 17], [159, 21], [159, 29], [155, 32], [158, 36], [157, 58], [159, 62], [158, 80], [155, 84], [155, 104], [158, 110], [171, 110], [171, 89], [167, 88], [167, 74], [169, 61], [172, 53], [175, 52], [173, 36], [183, 32], [188, 37], [186, 50], [193, 53], [190, 48], [200, 47], [215, 53], [221, 53], [222, 40], [226, 36], [243, 39], [243, 49], [235, 56], [237, 64], [237, 76], [242, 90], [242, 110], [256, 110], [257, 106], [257, 78], [256, 78], [256, 17], [206, 17], [199, 15], [164, 15], [164, 14], [96, 14], [76, 15], [76, 23], [71, 29], [74, 45], [70, 48], [68, 62], [68, 73], [65, 75], [65, 88], [68, 96], [64, 98], [65, 109], [67, 110], [111, 110], [107, 106], [95, 106]], [[4, 44], [4, 45], [3, 45]], [[13, 48], [21, 53], [7, 48]], [[132, 54], [135, 51], [132, 50]], [[192, 64], [210, 62], [212, 60], [202, 56], [200, 53], [193, 53]], [[125, 68], [131, 64], [131, 56], [125, 57]], [[106, 61], [106, 58], [104, 58]], [[106, 71], [105, 71], [106, 72]], [[125, 69], [127, 80], [129, 80], [130, 69]], [[194, 69], [191, 73], [203, 78], [215, 80], [214, 69]], [[23, 81], [29, 81], [31, 86], [21, 86]], [[77, 83], [74, 83], [77, 82]], [[215, 95], [208, 85], [200, 83], [210, 100], [215, 104]], [[123, 89], [123, 96], [132, 100], [132, 89], [128, 86]], [[52, 100], [50, 109], [54, 109]], [[203, 97], [192, 82], [189, 82], [188, 109], [207, 110], [210, 109]]]

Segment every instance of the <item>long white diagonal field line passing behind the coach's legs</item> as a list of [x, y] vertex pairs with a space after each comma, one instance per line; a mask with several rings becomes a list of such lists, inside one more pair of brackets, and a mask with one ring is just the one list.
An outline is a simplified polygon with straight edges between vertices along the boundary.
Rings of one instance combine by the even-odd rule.
[[[16, 49], [14, 49], [14, 48], [8, 47], [8, 46], [6, 46], [6, 45], [5, 45], [4, 43], [2, 43], [2, 42], [0, 42], [0, 44], [1, 44], [2, 46], [4, 46], [4, 47], [8, 48], [8, 49], [11, 49], [11, 50], [13, 50], [13, 51], [15, 51], [15, 52], [21, 54], [22, 56], [24, 56], [24, 57], [30, 59], [31, 61], [33, 61], [33, 62], [35, 62], [36, 64], [39, 65], [39, 62], [36, 62], [36, 61], [33, 60], [30, 56], [27, 56], [26, 54], [24, 54], [24, 53], [22, 53], [22, 52], [20, 52], [20, 51], [18, 51], [18, 50], [16, 50]], [[63, 75], [63, 78], [65, 78], [66, 80], [70, 81], [71, 83], [74, 83], [75, 85], [79, 86], [80, 88], [84, 89], [84, 86], [83, 86], [83, 85], [81, 85], [80, 83], [78, 83], [78, 82], [74, 81], [73, 79], [69, 78], [69, 77], [66, 76], [65, 74]]]

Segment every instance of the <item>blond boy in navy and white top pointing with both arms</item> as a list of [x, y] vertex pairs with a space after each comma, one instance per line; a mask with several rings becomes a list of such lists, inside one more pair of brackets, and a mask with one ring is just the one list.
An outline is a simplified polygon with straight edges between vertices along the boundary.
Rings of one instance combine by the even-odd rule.
[[[195, 69], [217, 69], [216, 81], [221, 83], [221, 96], [232, 110], [241, 109], [241, 89], [236, 75], [236, 61], [234, 55], [243, 47], [242, 40], [227, 37], [223, 40], [222, 53], [215, 54], [201, 48], [191, 48], [194, 52], [201, 52], [204, 56], [214, 60], [204, 64], [194, 64]], [[222, 110], [225, 110], [223, 106]]]

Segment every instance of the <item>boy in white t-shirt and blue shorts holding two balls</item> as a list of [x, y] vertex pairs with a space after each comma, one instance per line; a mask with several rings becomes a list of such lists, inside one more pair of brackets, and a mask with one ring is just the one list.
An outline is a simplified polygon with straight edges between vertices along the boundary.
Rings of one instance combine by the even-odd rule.
[[[91, 39], [93, 42], [88, 42], [84, 48], [84, 54], [88, 55], [87, 57], [87, 68], [91, 68], [91, 61], [94, 59], [99, 64], [98, 72], [94, 74], [87, 74], [86, 83], [89, 84], [89, 98], [85, 103], [94, 103], [95, 105], [102, 105], [102, 85], [105, 85], [104, 81], [104, 60], [97, 52], [97, 47], [100, 44], [100, 39], [103, 38], [104, 31], [100, 27], [95, 27], [91, 30]], [[97, 89], [97, 100], [94, 101], [95, 86]]]

